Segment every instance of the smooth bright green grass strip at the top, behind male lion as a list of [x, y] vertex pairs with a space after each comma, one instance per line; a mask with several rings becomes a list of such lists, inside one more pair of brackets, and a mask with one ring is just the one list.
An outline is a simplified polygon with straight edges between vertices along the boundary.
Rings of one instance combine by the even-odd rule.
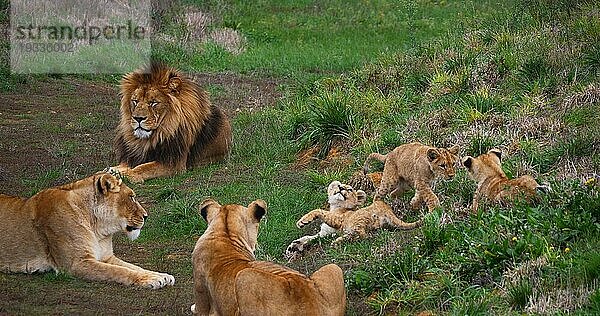
[[[504, 10], [494, 2], [423, 1], [183, 1], [215, 13], [207, 28], [230, 28], [246, 39], [246, 52], [234, 55], [214, 43], [157, 45], [158, 56], [200, 71], [233, 70], [291, 78], [316, 78], [351, 71], [375, 56], [404, 50]], [[185, 9], [182, 9], [185, 12]], [[478, 13], [479, 12], [479, 13]], [[457, 22], [458, 21], [458, 22]], [[459, 23], [460, 25], [455, 25]], [[171, 36], [189, 26], [166, 25]], [[187, 29], [187, 30], [186, 30]], [[189, 61], [189, 62], [188, 62]]]

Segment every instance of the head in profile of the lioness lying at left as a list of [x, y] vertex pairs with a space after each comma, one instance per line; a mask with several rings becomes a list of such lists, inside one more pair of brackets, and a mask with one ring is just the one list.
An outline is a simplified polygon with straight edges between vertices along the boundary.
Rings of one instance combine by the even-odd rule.
[[136, 201], [135, 192], [120, 177], [108, 172], [97, 174], [94, 181], [98, 203], [94, 211], [96, 217], [108, 224], [107, 230], [122, 230], [129, 239], [136, 239], [148, 213]]

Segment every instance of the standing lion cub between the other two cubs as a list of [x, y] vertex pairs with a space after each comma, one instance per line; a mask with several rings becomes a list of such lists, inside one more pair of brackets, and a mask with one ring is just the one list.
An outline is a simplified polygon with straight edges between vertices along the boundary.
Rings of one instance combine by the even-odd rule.
[[371, 159], [384, 163], [381, 184], [375, 193], [376, 200], [388, 194], [399, 196], [408, 188], [413, 188], [415, 196], [410, 201], [411, 207], [417, 209], [425, 203], [427, 209], [432, 211], [440, 206], [440, 200], [431, 190], [431, 183], [436, 178], [449, 180], [454, 177], [458, 151], [458, 146], [435, 148], [420, 143], [404, 144], [387, 155], [370, 154], [364, 170], [368, 170]]

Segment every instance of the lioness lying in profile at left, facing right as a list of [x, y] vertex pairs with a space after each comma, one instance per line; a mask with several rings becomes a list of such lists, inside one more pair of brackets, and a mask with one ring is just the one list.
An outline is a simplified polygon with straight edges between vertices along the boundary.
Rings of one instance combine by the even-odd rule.
[[148, 214], [111, 173], [43, 190], [29, 199], [0, 194], [0, 270], [64, 271], [99, 281], [157, 289], [173, 276], [144, 270], [113, 254], [112, 235], [140, 234]]

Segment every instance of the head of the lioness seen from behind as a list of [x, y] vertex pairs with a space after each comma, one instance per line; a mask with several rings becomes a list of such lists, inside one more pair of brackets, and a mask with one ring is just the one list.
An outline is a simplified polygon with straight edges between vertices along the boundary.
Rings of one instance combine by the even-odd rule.
[[230, 238], [239, 238], [246, 249], [254, 253], [258, 238], [258, 225], [267, 213], [267, 203], [256, 200], [248, 207], [237, 204], [221, 205], [213, 199], [200, 204], [200, 215], [208, 223], [207, 232], [227, 232]]

